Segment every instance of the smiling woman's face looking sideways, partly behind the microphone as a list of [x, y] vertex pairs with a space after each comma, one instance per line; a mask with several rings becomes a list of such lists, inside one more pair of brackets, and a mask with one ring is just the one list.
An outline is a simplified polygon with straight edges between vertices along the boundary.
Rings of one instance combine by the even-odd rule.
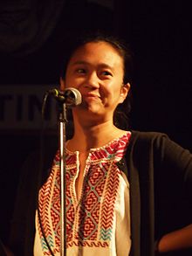
[[123, 59], [106, 42], [87, 43], [73, 53], [61, 80], [61, 89], [74, 87], [82, 94], [82, 104], [73, 111], [113, 118], [114, 109], [127, 97], [123, 85]]

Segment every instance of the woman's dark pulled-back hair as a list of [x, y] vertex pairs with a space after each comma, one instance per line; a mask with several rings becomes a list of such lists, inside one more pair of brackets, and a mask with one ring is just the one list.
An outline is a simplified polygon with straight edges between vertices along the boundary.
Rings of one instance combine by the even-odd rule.
[[[120, 57], [123, 60], [124, 64], [124, 77], [123, 83], [132, 83], [132, 74], [133, 74], [133, 53], [130, 48], [122, 39], [117, 38], [112, 35], [107, 35], [106, 33], [94, 32], [86, 35], [81, 35], [77, 38], [71, 38], [69, 40], [69, 45], [67, 45], [65, 50], [65, 58], [61, 61], [61, 73], [60, 76], [65, 80], [65, 72], [68, 66], [70, 59], [75, 51], [79, 47], [86, 45], [87, 43], [92, 42], [106, 42], [109, 45], [112, 45], [113, 48], [120, 54]], [[126, 129], [128, 127], [128, 116], [131, 110], [131, 92], [128, 93], [127, 99], [120, 104], [114, 112], [113, 121], [114, 124], [119, 127]]]

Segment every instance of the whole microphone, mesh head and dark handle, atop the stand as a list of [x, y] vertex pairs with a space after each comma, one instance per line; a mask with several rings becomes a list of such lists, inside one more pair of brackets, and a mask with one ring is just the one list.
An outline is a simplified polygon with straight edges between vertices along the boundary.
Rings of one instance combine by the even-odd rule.
[[53, 88], [48, 90], [47, 93], [53, 95], [53, 97], [58, 100], [58, 102], [65, 103], [67, 107], [78, 106], [82, 101], [81, 93], [79, 90], [72, 87], [65, 88], [64, 92]]

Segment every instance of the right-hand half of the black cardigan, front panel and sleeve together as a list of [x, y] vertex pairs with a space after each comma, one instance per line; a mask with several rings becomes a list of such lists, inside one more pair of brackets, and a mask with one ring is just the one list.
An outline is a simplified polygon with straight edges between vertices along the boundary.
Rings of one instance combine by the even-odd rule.
[[126, 159], [131, 255], [154, 255], [155, 239], [192, 222], [192, 156], [168, 135], [132, 131]]

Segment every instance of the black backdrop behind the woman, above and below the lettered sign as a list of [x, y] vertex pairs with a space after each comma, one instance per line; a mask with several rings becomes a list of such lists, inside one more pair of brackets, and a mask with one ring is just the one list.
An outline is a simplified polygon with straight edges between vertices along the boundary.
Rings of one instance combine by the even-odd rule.
[[[9, 84], [58, 83], [59, 56], [62, 47], [70, 44], [68, 35], [95, 29], [113, 31], [134, 52], [132, 127], [165, 132], [192, 150], [189, 6], [136, 0], [109, 5], [111, 8], [80, 0], [1, 2], [0, 90], [1, 85]], [[38, 131], [0, 130], [3, 240], [9, 232], [21, 165], [38, 147], [38, 138]]]

